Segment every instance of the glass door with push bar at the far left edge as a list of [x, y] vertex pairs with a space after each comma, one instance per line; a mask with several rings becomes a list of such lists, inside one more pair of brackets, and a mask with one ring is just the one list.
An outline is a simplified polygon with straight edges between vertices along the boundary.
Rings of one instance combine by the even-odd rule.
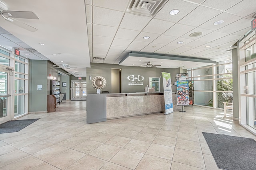
[[9, 75], [0, 68], [0, 124], [9, 121], [9, 87], [8, 87]]

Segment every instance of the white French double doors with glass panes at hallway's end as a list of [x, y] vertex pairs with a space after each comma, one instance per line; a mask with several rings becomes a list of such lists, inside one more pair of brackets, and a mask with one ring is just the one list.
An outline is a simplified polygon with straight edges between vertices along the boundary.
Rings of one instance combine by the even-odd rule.
[[86, 100], [86, 82], [85, 81], [71, 81], [71, 100]]

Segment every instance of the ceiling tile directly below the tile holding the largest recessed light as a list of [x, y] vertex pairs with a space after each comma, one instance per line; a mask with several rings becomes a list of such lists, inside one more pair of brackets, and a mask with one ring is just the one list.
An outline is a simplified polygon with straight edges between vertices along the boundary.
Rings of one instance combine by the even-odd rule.
[[[162, 34], [175, 23], [152, 19], [143, 29], [144, 32]], [[161, 26], [159, 26], [161, 25]]]

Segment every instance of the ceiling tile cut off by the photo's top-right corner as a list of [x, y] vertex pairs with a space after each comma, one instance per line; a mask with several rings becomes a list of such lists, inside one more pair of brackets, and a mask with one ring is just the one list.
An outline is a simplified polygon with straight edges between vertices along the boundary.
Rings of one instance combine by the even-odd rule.
[[255, 0], [243, 0], [226, 11], [241, 17], [246, 17], [255, 12], [255, 7]]

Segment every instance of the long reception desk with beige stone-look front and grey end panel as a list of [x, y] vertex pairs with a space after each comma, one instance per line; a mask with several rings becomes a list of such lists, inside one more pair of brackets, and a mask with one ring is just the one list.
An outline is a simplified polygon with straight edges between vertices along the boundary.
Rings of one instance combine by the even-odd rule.
[[[177, 106], [176, 98], [173, 93], [173, 109], [180, 110], [182, 106]], [[164, 94], [161, 92], [87, 95], [87, 123], [164, 111]]]

